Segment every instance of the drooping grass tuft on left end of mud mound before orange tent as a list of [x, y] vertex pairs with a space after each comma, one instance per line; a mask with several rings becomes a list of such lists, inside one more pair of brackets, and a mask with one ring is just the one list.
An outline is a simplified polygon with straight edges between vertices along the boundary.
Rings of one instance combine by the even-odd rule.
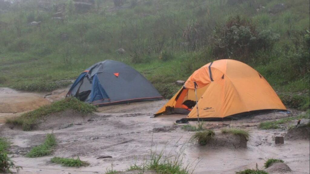
[[211, 129], [207, 129], [201, 132], [194, 133], [189, 139], [190, 142], [200, 144], [201, 146], [206, 145], [215, 136], [215, 133]]

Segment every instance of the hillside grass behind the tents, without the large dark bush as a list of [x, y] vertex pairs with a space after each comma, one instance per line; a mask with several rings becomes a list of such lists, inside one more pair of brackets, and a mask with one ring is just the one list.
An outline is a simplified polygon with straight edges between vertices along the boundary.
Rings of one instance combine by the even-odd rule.
[[[304, 63], [297, 64], [301, 60], [298, 56], [292, 56], [301, 55], [298, 50], [303, 39], [296, 39], [296, 33], [309, 29], [307, 0], [284, 0], [286, 8], [273, 15], [267, 9], [279, 3], [277, 0], [236, 5], [213, 0], [141, 1], [117, 11], [107, 9], [113, 6], [111, 0], [98, 2], [89, 13], [67, 13], [63, 23], [51, 20], [56, 11], [13, 3], [0, 16], [6, 24], [0, 32], [0, 86], [51, 91], [67, 85], [66, 80], [75, 79], [92, 64], [114, 59], [135, 67], [162, 96], [170, 98], [180, 88], [174, 84], [176, 80], [186, 80], [197, 68], [217, 59], [208, 41], [214, 29], [222, 27], [230, 16], [243, 15], [253, 20], [259, 31], [270, 28], [281, 36], [275, 49], [253, 54], [246, 63], [259, 70], [279, 92], [298, 90], [309, 94], [305, 91], [309, 89], [309, 73], [291, 71], [299, 67], [307, 70], [299, 66]], [[130, 5], [130, 1], [126, 3]], [[257, 12], [260, 5], [266, 8]], [[40, 27], [28, 25], [33, 20], [42, 21]], [[194, 50], [182, 45], [188, 41], [184, 29], [191, 20], [199, 24], [198, 35], [192, 33], [199, 40]], [[62, 33], [68, 34], [68, 40], [61, 40]], [[126, 54], [115, 53], [120, 47]], [[298, 68], [292, 68], [293, 64]], [[304, 103], [297, 105], [307, 107]]]

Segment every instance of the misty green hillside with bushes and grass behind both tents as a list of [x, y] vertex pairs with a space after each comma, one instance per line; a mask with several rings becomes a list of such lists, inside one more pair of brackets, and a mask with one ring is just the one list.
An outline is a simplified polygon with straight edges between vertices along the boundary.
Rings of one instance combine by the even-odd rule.
[[169, 98], [179, 88], [174, 82], [202, 65], [237, 59], [258, 70], [286, 105], [309, 108], [307, 0], [89, 2], [29, 0], [2, 9], [0, 86], [50, 91], [113, 59]]

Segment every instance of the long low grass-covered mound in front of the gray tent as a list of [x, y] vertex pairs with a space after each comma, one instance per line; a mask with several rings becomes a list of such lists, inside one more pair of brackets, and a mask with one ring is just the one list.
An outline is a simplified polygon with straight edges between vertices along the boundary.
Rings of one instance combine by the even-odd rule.
[[82, 113], [91, 113], [93, 111], [96, 111], [96, 107], [94, 105], [81, 102], [74, 97], [69, 97], [57, 102], [53, 102], [51, 105], [42, 106], [36, 110], [24, 113], [18, 118], [8, 119], [6, 123], [21, 125], [24, 131], [29, 131], [35, 128], [35, 126], [38, 124], [39, 120], [42, 119], [42, 117], [68, 109], [72, 109], [74, 111]]

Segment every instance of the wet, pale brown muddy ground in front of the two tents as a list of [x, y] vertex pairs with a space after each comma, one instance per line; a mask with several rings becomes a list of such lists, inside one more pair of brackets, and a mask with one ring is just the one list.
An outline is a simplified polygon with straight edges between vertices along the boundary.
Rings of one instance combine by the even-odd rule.
[[[61, 94], [59, 92], [55, 95], [59, 97]], [[53, 94], [50, 97], [52, 98]], [[148, 159], [151, 149], [166, 149], [170, 154], [183, 150], [184, 166], [196, 166], [195, 174], [234, 173], [245, 168], [255, 168], [256, 163], [262, 168], [268, 158], [283, 159], [292, 169], [290, 173], [309, 173], [309, 140], [285, 140], [283, 145], [276, 145], [274, 138], [285, 136], [286, 130], [257, 128], [261, 121], [279, 119], [290, 114], [277, 112], [237, 121], [205, 122], [206, 127], [214, 128], [216, 133], [228, 125], [251, 132], [247, 148], [210, 148], [188, 143], [193, 132], [181, 129], [182, 124], [174, 124], [175, 120], [184, 118], [184, 115], [150, 118], [165, 102], [163, 100], [100, 107], [98, 113], [91, 115], [66, 111], [51, 116], [44, 120], [37, 130], [29, 132], [0, 123], [0, 136], [8, 137], [12, 142], [10, 150], [13, 160], [23, 167], [20, 173], [104, 173], [112, 164], [115, 170], [126, 170], [135, 161], [139, 164]], [[2, 115], [10, 117], [12, 114]], [[197, 122], [192, 121], [190, 124]], [[24, 157], [31, 147], [43, 141], [45, 134], [51, 132], [58, 139], [58, 145], [51, 156]], [[91, 165], [80, 168], [62, 167], [49, 162], [54, 156], [79, 156]], [[106, 156], [112, 158], [100, 158]]]

